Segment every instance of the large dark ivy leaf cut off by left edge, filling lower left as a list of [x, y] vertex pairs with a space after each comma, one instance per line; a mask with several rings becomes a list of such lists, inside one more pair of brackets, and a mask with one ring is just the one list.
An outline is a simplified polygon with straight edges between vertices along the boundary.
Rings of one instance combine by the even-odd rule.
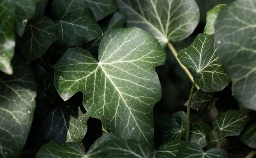
[[13, 59], [13, 74], [0, 73], [0, 157], [18, 158], [32, 124], [36, 83], [21, 56]]

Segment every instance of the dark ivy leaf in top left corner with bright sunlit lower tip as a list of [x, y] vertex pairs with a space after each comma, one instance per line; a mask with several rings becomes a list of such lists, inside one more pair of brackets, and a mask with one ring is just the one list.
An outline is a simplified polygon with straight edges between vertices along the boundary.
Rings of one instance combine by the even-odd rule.
[[1, 0], [0, 3], [0, 71], [12, 75], [11, 60], [15, 48], [15, 1]]

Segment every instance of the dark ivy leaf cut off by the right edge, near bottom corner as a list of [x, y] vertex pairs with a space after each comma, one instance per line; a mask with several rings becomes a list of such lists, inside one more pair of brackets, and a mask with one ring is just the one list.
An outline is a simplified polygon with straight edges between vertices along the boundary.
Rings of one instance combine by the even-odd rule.
[[256, 123], [250, 124], [241, 135], [240, 140], [249, 147], [256, 149]]

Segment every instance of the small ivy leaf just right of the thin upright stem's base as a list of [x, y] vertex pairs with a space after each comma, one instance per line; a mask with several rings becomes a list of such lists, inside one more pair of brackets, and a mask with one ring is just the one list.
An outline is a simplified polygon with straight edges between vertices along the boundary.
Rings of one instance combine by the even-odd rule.
[[192, 125], [192, 131], [190, 131], [190, 143], [198, 144], [204, 148], [207, 146], [207, 138], [211, 134], [211, 129], [207, 124], [197, 122]]

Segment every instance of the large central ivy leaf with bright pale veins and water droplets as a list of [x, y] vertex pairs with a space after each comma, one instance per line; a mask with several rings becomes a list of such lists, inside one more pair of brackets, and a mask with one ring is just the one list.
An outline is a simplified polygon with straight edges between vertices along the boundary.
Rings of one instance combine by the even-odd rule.
[[101, 119], [108, 132], [152, 145], [152, 109], [161, 98], [154, 68], [164, 60], [151, 33], [112, 29], [99, 46], [99, 62], [84, 49], [65, 52], [55, 65], [55, 87], [64, 101], [83, 92], [86, 111]]

